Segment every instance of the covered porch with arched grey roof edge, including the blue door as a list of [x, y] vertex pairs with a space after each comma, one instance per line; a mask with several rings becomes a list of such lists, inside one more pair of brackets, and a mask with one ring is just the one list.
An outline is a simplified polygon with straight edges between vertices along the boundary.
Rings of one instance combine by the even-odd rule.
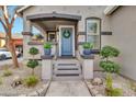
[[[50, 42], [53, 45], [52, 56], [55, 58], [76, 57], [76, 50], [78, 49], [78, 22], [80, 20], [80, 15], [56, 12], [27, 15], [25, 25], [30, 27], [27, 30], [30, 31], [30, 38], [26, 45], [42, 45], [43, 47], [45, 42]], [[32, 25], [41, 31], [41, 35], [44, 37], [43, 42], [34, 42], [32, 39]], [[25, 37], [29, 34], [24, 32], [23, 35]], [[41, 55], [44, 55], [43, 52]]]

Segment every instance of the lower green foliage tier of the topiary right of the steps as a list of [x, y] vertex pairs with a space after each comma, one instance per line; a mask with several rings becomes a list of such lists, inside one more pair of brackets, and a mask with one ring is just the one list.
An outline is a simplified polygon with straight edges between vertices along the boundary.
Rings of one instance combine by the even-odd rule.
[[100, 67], [103, 68], [106, 72], [118, 72], [120, 71], [120, 65], [111, 60], [100, 61]]

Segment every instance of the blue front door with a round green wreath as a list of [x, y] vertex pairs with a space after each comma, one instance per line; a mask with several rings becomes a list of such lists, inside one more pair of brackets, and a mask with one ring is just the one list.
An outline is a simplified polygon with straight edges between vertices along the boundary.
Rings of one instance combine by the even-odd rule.
[[61, 27], [61, 55], [72, 55], [72, 27]]

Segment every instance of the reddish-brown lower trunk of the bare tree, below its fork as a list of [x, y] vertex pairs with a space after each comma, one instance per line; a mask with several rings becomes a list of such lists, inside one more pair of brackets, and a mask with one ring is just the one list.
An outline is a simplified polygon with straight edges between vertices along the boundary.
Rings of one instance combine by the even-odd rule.
[[9, 50], [11, 52], [12, 60], [13, 60], [14, 67], [15, 67], [15, 68], [19, 68], [18, 56], [16, 56], [15, 47], [14, 47], [14, 45], [13, 45], [12, 39], [9, 39], [9, 42], [8, 42], [8, 48], [9, 48]]

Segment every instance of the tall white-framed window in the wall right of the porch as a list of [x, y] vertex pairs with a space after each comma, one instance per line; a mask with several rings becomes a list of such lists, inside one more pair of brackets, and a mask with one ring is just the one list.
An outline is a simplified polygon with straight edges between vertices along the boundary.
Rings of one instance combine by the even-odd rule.
[[100, 49], [101, 20], [99, 18], [86, 19], [87, 42], [94, 44], [94, 49]]

